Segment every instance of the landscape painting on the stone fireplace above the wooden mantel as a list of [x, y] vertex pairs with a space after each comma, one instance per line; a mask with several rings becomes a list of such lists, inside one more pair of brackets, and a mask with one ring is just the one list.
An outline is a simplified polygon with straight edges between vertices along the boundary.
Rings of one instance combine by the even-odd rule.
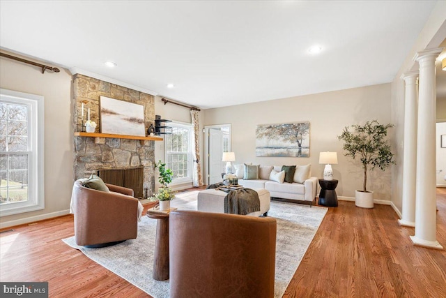
[[101, 133], [144, 137], [144, 106], [100, 96], [100, 130]]

